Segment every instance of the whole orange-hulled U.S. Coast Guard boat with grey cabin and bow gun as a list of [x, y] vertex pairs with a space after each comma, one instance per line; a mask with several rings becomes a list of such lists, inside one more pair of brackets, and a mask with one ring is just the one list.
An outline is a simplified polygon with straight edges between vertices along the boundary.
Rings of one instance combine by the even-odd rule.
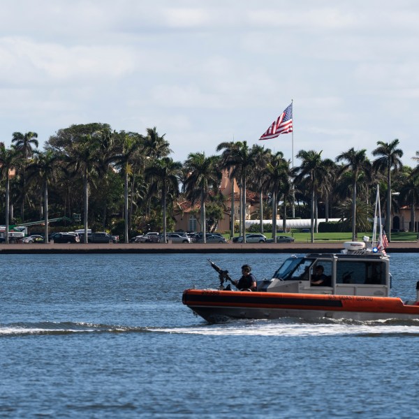
[[[291, 256], [272, 279], [258, 281], [257, 291], [228, 291], [228, 272], [219, 272], [218, 289], [188, 289], [182, 302], [210, 323], [230, 319], [275, 319], [297, 317], [374, 321], [396, 318], [419, 319], [419, 281], [416, 301], [390, 297], [391, 275], [385, 249], [363, 242], [346, 242], [340, 253], [309, 253]], [[324, 286], [314, 286], [311, 277], [322, 265]]]

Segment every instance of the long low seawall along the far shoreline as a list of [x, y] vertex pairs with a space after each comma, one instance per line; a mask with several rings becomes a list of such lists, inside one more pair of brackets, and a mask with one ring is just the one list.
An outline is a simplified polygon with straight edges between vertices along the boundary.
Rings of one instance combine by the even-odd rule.
[[[318, 243], [110, 243], [110, 244], [0, 244], [1, 254], [25, 253], [334, 253], [342, 242]], [[419, 253], [418, 242], [392, 242], [387, 253]]]

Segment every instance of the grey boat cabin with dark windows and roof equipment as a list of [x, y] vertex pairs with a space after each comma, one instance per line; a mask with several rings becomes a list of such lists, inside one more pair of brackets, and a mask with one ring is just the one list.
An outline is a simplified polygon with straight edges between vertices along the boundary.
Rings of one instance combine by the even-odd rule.
[[[291, 256], [272, 279], [258, 283], [258, 291], [388, 297], [391, 287], [388, 256], [356, 247], [351, 242], [341, 253]], [[312, 283], [318, 265], [325, 275], [321, 286]]]

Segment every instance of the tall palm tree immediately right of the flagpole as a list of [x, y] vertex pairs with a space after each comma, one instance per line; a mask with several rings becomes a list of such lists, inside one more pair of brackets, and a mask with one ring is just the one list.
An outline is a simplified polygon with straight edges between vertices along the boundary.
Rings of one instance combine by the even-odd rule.
[[314, 204], [316, 202], [316, 192], [319, 189], [321, 179], [325, 177], [325, 166], [321, 159], [321, 152], [314, 150], [300, 150], [297, 153], [297, 159], [301, 159], [301, 166], [293, 169], [295, 183], [303, 184], [307, 182], [311, 194], [311, 243], [314, 242]]

